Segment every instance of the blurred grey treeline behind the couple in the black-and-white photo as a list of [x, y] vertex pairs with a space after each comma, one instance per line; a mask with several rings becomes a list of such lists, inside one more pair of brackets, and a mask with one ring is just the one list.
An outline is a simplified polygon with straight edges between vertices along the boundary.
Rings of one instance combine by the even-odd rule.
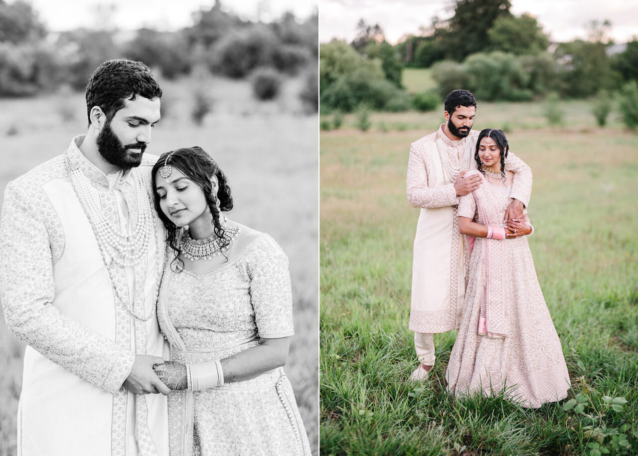
[[52, 34], [31, 4], [0, 0], [0, 96], [31, 96], [63, 84], [84, 89], [100, 63], [119, 57], [143, 61], [167, 79], [196, 68], [232, 78], [262, 67], [316, 75], [316, 14], [302, 24], [291, 13], [268, 24], [247, 22], [222, 11], [217, 1], [193, 17], [192, 27], [140, 29], [126, 39], [107, 26]]

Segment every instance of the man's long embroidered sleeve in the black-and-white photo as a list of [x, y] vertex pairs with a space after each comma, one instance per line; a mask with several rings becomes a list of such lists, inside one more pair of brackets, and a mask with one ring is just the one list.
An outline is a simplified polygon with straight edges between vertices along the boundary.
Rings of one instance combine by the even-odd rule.
[[15, 183], [6, 188], [0, 221], [0, 297], [6, 326], [49, 360], [110, 393], [128, 377], [135, 354], [61, 314], [53, 304], [47, 227]]

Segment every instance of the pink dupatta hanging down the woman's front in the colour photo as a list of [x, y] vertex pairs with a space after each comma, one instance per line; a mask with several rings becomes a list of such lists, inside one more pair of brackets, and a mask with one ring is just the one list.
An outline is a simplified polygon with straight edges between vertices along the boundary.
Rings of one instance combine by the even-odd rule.
[[[482, 176], [482, 174], [481, 174]], [[477, 204], [479, 223], [502, 225], [492, 185], [485, 181], [472, 192]], [[481, 298], [479, 335], [491, 338], [507, 336], [507, 250], [505, 240], [483, 239], [485, 291]], [[473, 246], [472, 246], [473, 247]]]

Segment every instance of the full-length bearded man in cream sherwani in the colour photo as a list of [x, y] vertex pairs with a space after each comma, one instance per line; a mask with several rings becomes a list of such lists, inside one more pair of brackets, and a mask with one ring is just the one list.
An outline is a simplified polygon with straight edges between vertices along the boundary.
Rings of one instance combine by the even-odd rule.
[[[469, 261], [459, 233], [456, 208], [459, 197], [476, 190], [480, 176], [464, 178], [476, 168], [479, 132], [471, 132], [477, 102], [463, 89], [445, 98], [439, 129], [412, 143], [408, 161], [408, 201], [420, 208], [412, 263], [410, 330], [419, 366], [413, 381], [425, 380], [434, 365], [434, 333], [459, 328], [465, 298], [465, 270]], [[530, 201], [531, 169], [508, 153], [505, 169], [514, 172], [512, 203], [505, 218], [519, 218]]]

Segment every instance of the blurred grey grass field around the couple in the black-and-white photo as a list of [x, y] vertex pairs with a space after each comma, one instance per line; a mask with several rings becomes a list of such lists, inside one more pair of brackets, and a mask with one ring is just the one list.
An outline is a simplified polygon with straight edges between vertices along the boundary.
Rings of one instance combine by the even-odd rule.
[[[212, 112], [189, 119], [194, 89], [205, 87]], [[229, 217], [268, 232], [290, 259], [295, 336], [285, 367], [309, 434], [318, 447], [318, 160], [317, 117], [302, 115], [299, 80], [279, 100], [258, 103], [246, 82], [226, 79], [163, 84], [163, 119], [147, 150], [159, 155], [199, 145], [228, 176], [235, 201]], [[2, 100], [0, 189], [38, 163], [63, 153], [86, 131], [83, 94]], [[66, 119], [66, 121], [64, 120]], [[0, 200], [1, 202], [1, 200]], [[15, 455], [16, 410], [24, 346], [0, 319], [0, 456]], [[256, 412], [257, 413], [257, 412]]]

